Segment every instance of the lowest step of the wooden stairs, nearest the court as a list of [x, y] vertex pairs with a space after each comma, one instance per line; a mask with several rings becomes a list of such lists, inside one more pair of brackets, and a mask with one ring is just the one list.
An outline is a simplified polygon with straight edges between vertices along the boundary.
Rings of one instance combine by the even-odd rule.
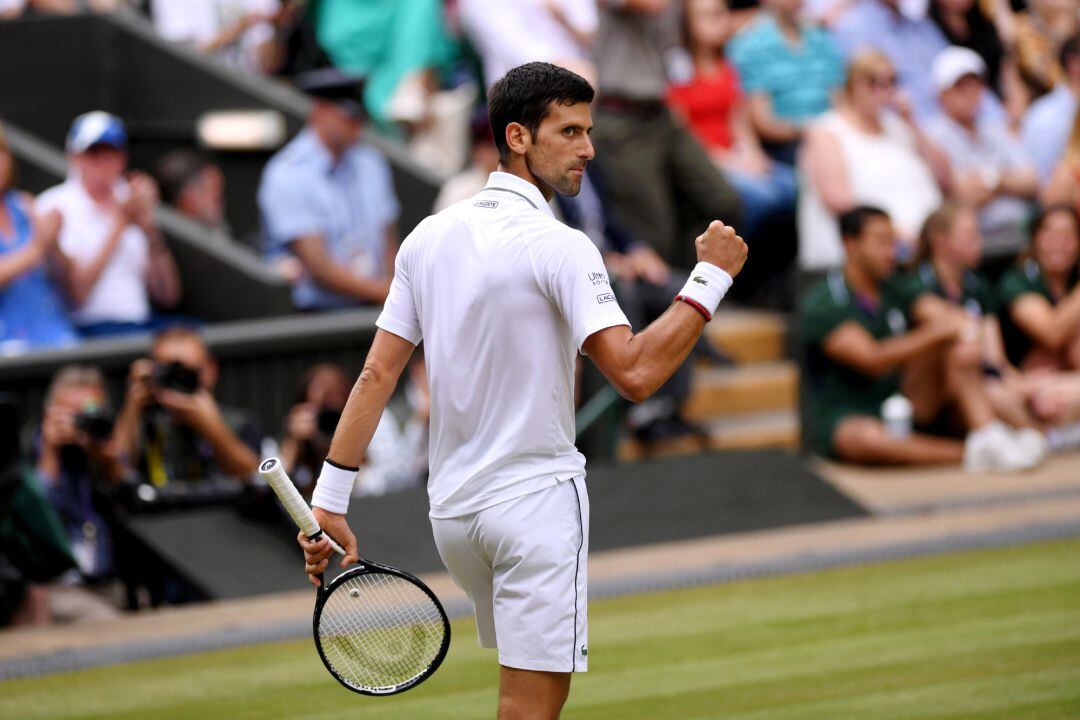
[[799, 447], [798, 411], [771, 410], [745, 412], [710, 422], [707, 447], [696, 437], [680, 437], [652, 443], [649, 448], [634, 438], [619, 441], [616, 457], [622, 462], [649, 458], [694, 454], [705, 450], [760, 450], [764, 448]]

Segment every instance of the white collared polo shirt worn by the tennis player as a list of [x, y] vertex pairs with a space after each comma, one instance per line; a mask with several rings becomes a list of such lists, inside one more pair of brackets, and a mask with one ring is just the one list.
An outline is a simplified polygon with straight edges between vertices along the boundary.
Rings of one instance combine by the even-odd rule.
[[585, 472], [573, 367], [585, 339], [630, 325], [599, 252], [540, 190], [492, 173], [397, 253], [376, 323], [424, 343], [431, 517], [458, 517]]

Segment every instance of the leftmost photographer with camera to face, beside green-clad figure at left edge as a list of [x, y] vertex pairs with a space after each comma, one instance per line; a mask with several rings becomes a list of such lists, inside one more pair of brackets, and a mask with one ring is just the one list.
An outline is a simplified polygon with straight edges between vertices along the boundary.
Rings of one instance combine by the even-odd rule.
[[95, 367], [60, 368], [45, 393], [44, 418], [36, 438], [36, 476], [56, 510], [78, 571], [50, 593], [56, 620], [113, 616], [117, 609], [89, 587], [116, 571], [108, 493], [122, 470], [111, 438], [112, 419], [102, 372]]

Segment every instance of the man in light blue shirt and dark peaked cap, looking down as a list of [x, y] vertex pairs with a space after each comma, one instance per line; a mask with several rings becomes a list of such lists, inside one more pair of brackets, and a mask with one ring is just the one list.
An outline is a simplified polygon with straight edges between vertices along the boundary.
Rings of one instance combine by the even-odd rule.
[[361, 144], [359, 82], [337, 70], [301, 79], [313, 96], [308, 125], [267, 164], [258, 202], [270, 248], [303, 268], [293, 287], [302, 310], [381, 303], [397, 253], [390, 166]]

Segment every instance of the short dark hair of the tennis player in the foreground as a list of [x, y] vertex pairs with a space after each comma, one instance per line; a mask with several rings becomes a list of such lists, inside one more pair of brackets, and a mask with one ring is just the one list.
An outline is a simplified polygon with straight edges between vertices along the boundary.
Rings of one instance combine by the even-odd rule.
[[552, 103], [592, 103], [589, 81], [551, 63], [526, 63], [513, 68], [487, 92], [487, 117], [499, 158], [510, 157], [507, 125], [519, 123], [535, 137]]

